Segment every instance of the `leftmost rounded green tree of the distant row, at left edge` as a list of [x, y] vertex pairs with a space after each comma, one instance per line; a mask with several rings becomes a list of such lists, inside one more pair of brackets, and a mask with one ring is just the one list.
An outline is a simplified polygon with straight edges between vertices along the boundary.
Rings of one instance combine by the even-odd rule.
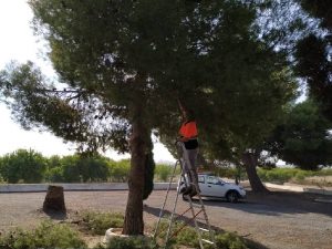
[[27, 184], [40, 183], [44, 179], [46, 170], [45, 158], [32, 149], [19, 149], [7, 154], [0, 164], [0, 174], [10, 184], [22, 180]]

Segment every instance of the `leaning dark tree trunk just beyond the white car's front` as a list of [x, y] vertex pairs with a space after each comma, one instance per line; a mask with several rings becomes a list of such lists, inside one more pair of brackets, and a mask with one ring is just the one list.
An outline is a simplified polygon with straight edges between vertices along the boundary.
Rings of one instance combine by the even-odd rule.
[[261, 183], [258, 174], [257, 174], [257, 157], [253, 153], [243, 153], [242, 162], [245, 164], [245, 168], [249, 178], [249, 183], [252, 191], [255, 193], [268, 193], [269, 190]]

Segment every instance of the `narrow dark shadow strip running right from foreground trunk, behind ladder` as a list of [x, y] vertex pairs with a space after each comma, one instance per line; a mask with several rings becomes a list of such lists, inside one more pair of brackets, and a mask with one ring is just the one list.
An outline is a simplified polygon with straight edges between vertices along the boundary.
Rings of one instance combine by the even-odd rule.
[[[160, 215], [160, 208], [151, 207], [151, 206], [148, 206], [148, 205], [144, 205], [144, 211], [146, 211], [147, 214], [151, 214], [151, 215], [153, 215], [153, 216], [155, 216], [155, 217], [159, 217], [159, 215]], [[190, 215], [189, 212], [186, 212], [186, 214]], [[197, 211], [196, 211], [196, 214], [197, 214]], [[163, 218], [167, 218], [167, 217], [170, 217], [170, 216], [172, 216], [172, 212], [170, 212], [170, 211], [168, 211], [168, 210], [164, 210], [164, 211], [163, 211]], [[169, 220], [169, 219], [167, 219], [167, 220]], [[174, 220], [175, 220], [175, 221], [183, 221], [184, 224], [187, 224], [187, 225], [190, 226], [190, 227], [195, 227], [193, 219], [191, 219], [191, 218], [188, 218], [188, 217], [186, 217], [186, 216], [178, 216], [178, 214], [176, 214]], [[196, 220], [197, 220], [198, 227], [205, 227], [205, 222], [200, 221], [200, 220], [204, 220], [203, 218], [197, 217]], [[204, 220], [204, 221], [205, 221], [205, 220]], [[210, 225], [210, 227], [211, 227], [211, 229], [215, 230], [217, 234], [226, 232], [226, 231], [225, 231], [224, 229], [221, 229], [220, 227], [212, 226], [212, 225]], [[175, 232], [176, 232], [176, 231], [175, 231]], [[241, 237], [242, 239], [246, 240], [246, 242], [247, 242], [247, 245], [249, 246], [249, 248], [255, 248], [255, 249], [269, 249], [269, 248], [267, 248], [266, 246], [263, 246], [263, 245], [261, 245], [261, 243], [259, 243], [259, 242], [257, 242], [257, 241], [253, 241], [253, 240], [251, 240], [251, 239], [246, 238], [247, 236], [249, 236], [249, 235], [246, 235], [246, 236], [239, 236], [239, 237]], [[172, 237], [172, 235], [170, 235], [170, 237]]]

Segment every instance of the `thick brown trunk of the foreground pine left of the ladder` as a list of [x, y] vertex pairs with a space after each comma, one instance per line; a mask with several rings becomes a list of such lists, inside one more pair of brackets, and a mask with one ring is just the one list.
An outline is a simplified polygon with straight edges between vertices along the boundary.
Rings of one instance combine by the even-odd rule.
[[124, 235], [143, 235], [143, 189], [146, 158], [146, 137], [149, 135], [142, 118], [139, 106], [135, 107], [135, 118], [131, 136], [131, 172], [128, 177], [128, 199], [124, 220]]

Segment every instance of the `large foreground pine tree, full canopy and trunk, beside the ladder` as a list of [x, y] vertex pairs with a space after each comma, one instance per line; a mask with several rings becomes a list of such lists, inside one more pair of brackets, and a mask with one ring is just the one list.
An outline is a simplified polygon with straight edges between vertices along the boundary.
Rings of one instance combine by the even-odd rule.
[[259, 144], [293, 96], [286, 54], [259, 39], [256, 10], [241, 1], [29, 2], [68, 87], [53, 89], [28, 63], [2, 72], [2, 92], [25, 127], [82, 149], [131, 152], [124, 234], [143, 234], [151, 133], [176, 136], [178, 101], [195, 111], [201, 144], [222, 158]]

